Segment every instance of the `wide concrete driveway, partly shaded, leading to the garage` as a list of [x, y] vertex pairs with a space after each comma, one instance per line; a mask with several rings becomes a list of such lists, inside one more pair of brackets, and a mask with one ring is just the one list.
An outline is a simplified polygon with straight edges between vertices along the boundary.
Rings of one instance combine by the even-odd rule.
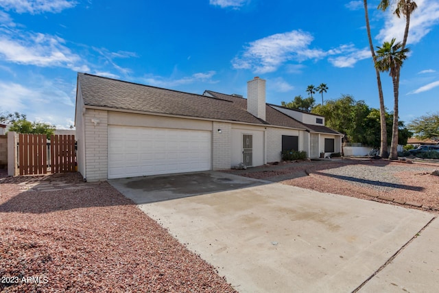
[[439, 287], [431, 213], [220, 172], [109, 182], [239, 292]]

